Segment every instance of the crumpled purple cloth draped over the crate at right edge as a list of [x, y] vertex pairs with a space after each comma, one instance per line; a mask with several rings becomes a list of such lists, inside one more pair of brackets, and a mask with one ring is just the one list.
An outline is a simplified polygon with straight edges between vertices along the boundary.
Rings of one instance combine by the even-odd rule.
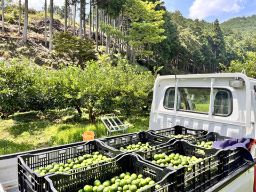
[[213, 148], [218, 149], [235, 149], [240, 148], [245, 159], [253, 162], [253, 157], [247, 147], [250, 146], [250, 139], [237, 139], [232, 138], [225, 141], [215, 141], [212, 143]]

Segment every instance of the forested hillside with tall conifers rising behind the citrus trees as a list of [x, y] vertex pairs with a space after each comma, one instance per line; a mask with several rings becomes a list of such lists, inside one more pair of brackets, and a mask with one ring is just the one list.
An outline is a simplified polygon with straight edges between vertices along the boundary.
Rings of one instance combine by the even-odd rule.
[[[140, 11], [136, 8], [139, 4]], [[79, 3], [70, 4], [69, 9], [74, 8], [75, 5], [79, 11]], [[86, 7], [89, 6], [89, 4], [86, 5]], [[131, 9], [127, 9], [129, 6]], [[65, 31], [63, 14], [65, 7], [55, 5], [54, 7], [53, 37]], [[27, 58], [38, 65], [53, 68], [58, 67], [60, 63], [74, 63], [75, 61], [67, 55], [59, 54], [58, 57], [55, 54], [54, 44], [53, 51], [47, 52], [50, 41], [49, 8], [46, 18], [47, 46], [44, 42], [44, 12], [33, 9], [28, 10], [28, 42], [22, 44], [24, 9], [22, 5], [21, 34], [18, 34], [19, 7], [12, 3], [5, 7], [6, 22], [5, 32], [0, 33], [2, 37], [0, 46], [3, 47], [0, 57], [4, 60]], [[74, 36], [79, 38], [82, 31], [82, 38], [92, 41], [97, 55], [108, 53], [111, 60], [116, 58], [116, 53], [119, 53], [131, 63], [137, 62], [149, 70], [155, 66], [163, 66], [159, 72], [161, 74], [214, 73], [221, 71], [219, 63], [229, 66], [231, 61], [241, 60], [242, 58], [237, 54], [238, 51], [246, 54], [247, 51], [255, 52], [256, 50], [253, 25], [256, 22], [255, 15], [247, 18], [233, 18], [221, 24], [218, 19], [209, 23], [204, 20], [186, 19], [180, 11], [169, 12], [157, 1], [145, 3], [139, 0], [120, 1], [116, 5], [105, 5], [95, 1], [92, 10], [93, 15], [86, 12], [85, 17], [83, 16], [82, 30], [80, 30], [81, 23], [76, 22], [74, 25], [74, 22], [71, 22], [74, 14], [70, 14], [67, 24], [68, 33], [75, 34]], [[149, 10], [151, 10], [150, 17], [147, 16], [150, 14], [138, 14], [139, 12], [147, 13]], [[103, 14], [106, 12], [109, 12], [109, 18]], [[120, 18], [126, 18], [131, 22], [129, 25], [122, 24], [125, 19], [120, 20]], [[157, 20], [152, 20], [154, 18]], [[111, 22], [107, 19], [111, 19]]]

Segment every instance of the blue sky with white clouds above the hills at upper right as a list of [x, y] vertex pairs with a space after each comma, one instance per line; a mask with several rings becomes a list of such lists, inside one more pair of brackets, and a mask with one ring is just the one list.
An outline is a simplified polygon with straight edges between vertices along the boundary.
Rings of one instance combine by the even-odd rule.
[[207, 22], [256, 14], [256, 0], [165, 0], [165, 7], [171, 12], [180, 10], [185, 18]]

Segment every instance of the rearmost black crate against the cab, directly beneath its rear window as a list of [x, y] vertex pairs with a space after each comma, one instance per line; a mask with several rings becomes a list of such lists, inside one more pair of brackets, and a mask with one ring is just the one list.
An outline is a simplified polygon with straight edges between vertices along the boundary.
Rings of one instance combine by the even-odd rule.
[[189, 129], [180, 125], [176, 125], [174, 127], [162, 129], [162, 130], [149, 130], [149, 132], [152, 132], [157, 135], [162, 135], [164, 137], [170, 137], [168, 135], [172, 135], [172, 134], [190, 135], [183, 138], [170, 137], [173, 139], [187, 139], [187, 140], [207, 134], [207, 131], [205, 130], [194, 130], [194, 129]]

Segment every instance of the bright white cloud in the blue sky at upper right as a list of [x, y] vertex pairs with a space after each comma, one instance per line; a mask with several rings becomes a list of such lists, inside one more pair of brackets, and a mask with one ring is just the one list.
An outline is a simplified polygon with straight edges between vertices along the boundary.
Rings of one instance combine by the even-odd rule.
[[195, 0], [189, 8], [189, 18], [201, 20], [223, 12], [238, 13], [245, 3], [246, 0]]

